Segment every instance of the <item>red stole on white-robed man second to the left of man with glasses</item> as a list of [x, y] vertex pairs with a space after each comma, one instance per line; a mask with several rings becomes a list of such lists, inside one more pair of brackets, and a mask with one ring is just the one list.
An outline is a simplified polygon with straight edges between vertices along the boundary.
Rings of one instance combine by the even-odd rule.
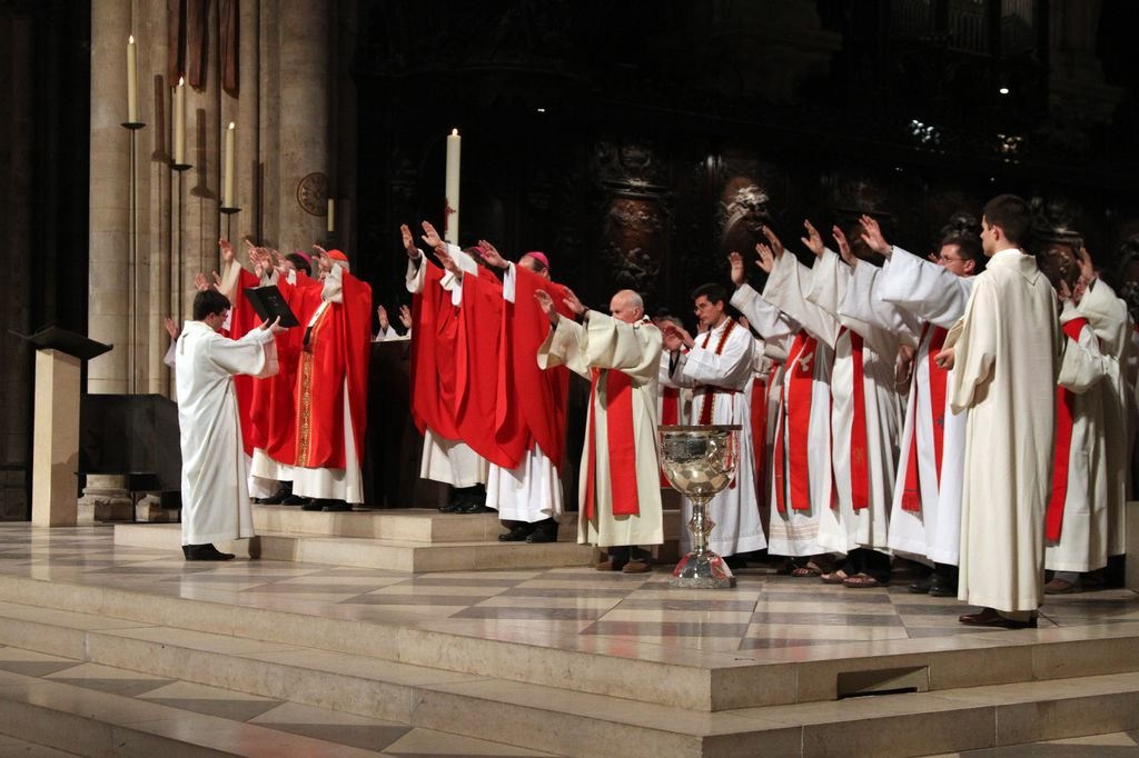
[[[811, 430], [811, 397], [814, 389], [814, 359], [819, 341], [801, 330], [790, 346], [790, 359], [784, 369], [784, 397], [779, 405], [776, 446], [771, 465], [775, 469], [776, 508], [787, 512], [785, 477], [790, 475], [790, 506], [796, 511], [811, 509], [811, 471], [808, 458]], [[784, 460], [784, 425], [787, 446]]]

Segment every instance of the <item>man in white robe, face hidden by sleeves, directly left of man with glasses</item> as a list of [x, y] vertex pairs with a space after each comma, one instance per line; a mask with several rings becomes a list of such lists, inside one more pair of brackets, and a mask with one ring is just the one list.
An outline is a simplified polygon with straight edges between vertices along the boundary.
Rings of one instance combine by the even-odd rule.
[[781, 254], [781, 242], [767, 226], [771, 247], [760, 247], [761, 255], [776, 255], [778, 249], [777, 257], [787, 261], [773, 267], [764, 299], [797, 321], [803, 320], [801, 314], [813, 319], [835, 351], [830, 430], [836, 505], [820, 514], [819, 543], [846, 555], [846, 563], [821, 578], [852, 588], [882, 586], [890, 583], [886, 535], [901, 426], [901, 402], [894, 388], [899, 341], [887, 330], [842, 314], [851, 266], [858, 261], [849, 250], [841, 258], [827, 249], [810, 222], [804, 228], [803, 242], [817, 256], [809, 289], [797, 275], [801, 264]]

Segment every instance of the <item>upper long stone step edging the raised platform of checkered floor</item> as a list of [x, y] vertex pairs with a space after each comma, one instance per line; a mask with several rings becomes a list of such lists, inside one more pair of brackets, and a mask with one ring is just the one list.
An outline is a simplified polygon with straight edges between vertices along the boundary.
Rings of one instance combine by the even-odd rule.
[[[59, 579], [0, 576], [0, 598], [15, 604], [0, 608], [0, 616], [7, 617], [0, 644], [57, 645], [44, 650], [68, 657], [82, 654], [89, 631], [161, 625], [705, 714], [834, 701], [843, 694], [900, 687], [936, 693], [1139, 672], [1134, 623], [894, 640], [890, 653], [879, 652], [882, 645], [875, 642], [694, 653], [580, 635], [543, 646], [533, 644], [528, 633], [516, 637], [519, 633], [510, 627], [487, 629], [478, 619], [469, 625], [448, 619], [442, 631], [421, 617], [398, 612], [385, 612], [388, 620], [364, 621], [355, 618], [358, 609], [337, 604], [306, 615]], [[58, 616], [72, 612], [90, 617]]]

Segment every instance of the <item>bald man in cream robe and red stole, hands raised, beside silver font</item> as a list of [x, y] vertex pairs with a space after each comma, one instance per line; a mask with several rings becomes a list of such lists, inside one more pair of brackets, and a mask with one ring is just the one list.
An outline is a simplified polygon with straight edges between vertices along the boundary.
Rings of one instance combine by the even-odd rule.
[[629, 289], [613, 296], [612, 315], [587, 310], [566, 290], [564, 305], [583, 324], [560, 315], [548, 293], [539, 290], [534, 297], [551, 324], [539, 365], [565, 365], [591, 380], [577, 542], [607, 552], [595, 567], [599, 571], [648, 572], [652, 554], [644, 546], [664, 542], [656, 453], [661, 331]]

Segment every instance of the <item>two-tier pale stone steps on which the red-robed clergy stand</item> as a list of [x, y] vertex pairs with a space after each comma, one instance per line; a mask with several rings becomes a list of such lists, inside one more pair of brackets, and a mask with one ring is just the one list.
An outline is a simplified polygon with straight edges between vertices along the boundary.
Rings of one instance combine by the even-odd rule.
[[[427, 509], [339, 513], [255, 505], [252, 539], [218, 543], [241, 558], [328, 563], [390, 571], [468, 571], [477, 569], [588, 566], [597, 551], [576, 544], [576, 514], [558, 530], [556, 543], [503, 543], [495, 513], [453, 514]], [[679, 534], [680, 512], [665, 511], [666, 534]], [[181, 550], [177, 524], [117, 524], [115, 544]], [[657, 550], [658, 559], [677, 560], [675, 538]]]

